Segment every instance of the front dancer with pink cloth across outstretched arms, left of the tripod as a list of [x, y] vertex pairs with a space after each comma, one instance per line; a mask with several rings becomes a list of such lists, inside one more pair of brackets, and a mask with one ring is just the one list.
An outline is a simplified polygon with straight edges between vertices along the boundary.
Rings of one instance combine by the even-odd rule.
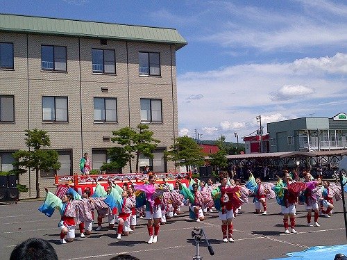
[[[160, 195], [167, 191], [162, 186], [155, 184], [154, 174], [149, 175], [149, 184], [134, 185], [135, 190], [142, 190], [146, 194], [146, 219], [147, 229], [149, 231], [149, 241], [147, 243], [157, 243], [160, 228], [160, 219], [162, 218], [162, 209]], [[154, 236], [153, 236], [154, 224]]]

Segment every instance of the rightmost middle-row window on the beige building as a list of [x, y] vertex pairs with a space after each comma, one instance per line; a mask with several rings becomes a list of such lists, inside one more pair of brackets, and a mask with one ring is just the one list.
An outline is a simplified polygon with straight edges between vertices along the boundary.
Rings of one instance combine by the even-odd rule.
[[162, 99], [141, 99], [141, 122], [162, 122]]

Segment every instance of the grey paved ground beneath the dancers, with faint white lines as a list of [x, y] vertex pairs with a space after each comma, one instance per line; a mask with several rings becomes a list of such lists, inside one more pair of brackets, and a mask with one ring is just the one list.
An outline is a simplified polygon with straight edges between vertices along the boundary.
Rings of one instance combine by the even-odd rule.
[[[76, 238], [73, 243], [60, 245], [57, 227], [59, 213], [51, 218], [37, 211], [42, 202], [0, 204], [0, 259], [9, 259], [15, 245], [31, 238], [48, 240], [64, 259], [105, 260], [120, 254], [132, 254], [139, 259], [192, 259], [196, 254], [192, 229], [203, 227], [214, 249], [210, 256], [205, 243], [201, 243], [203, 259], [273, 259], [285, 252], [305, 250], [314, 245], [346, 244], [342, 202], [335, 202], [332, 218], [319, 218], [321, 227], [307, 227], [303, 206], [298, 206], [296, 218], [298, 234], [284, 234], [280, 206], [268, 201], [267, 216], [253, 213], [253, 203], [244, 204], [242, 214], [234, 221], [235, 243], [221, 242], [221, 226], [217, 213], [208, 213], [204, 222], [188, 220], [187, 211], [160, 227], [158, 243], [147, 245], [146, 221], [139, 220], [134, 234], [117, 241], [115, 231], [94, 231], [90, 238]], [[185, 207], [185, 210], [187, 208]], [[313, 217], [312, 217], [313, 220]], [[105, 224], [104, 224], [105, 225]], [[77, 231], [78, 233], [78, 231]]]

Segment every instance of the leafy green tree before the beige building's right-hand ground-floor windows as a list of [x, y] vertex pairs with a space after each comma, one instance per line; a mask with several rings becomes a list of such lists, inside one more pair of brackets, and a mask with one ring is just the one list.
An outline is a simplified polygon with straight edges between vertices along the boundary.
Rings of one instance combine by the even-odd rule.
[[124, 127], [118, 131], [112, 131], [112, 134], [114, 136], [111, 138], [112, 142], [123, 145], [123, 158], [128, 159], [130, 172], [133, 172], [131, 159], [136, 158], [136, 170], [139, 171], [139, 155], [144, 154], [153, 158], [152, 151], [160, 143], [160, 140], [153, 138], [153, 132], [149, 131], [149, 126], [146, 124], [138, 124], [136, 129]]

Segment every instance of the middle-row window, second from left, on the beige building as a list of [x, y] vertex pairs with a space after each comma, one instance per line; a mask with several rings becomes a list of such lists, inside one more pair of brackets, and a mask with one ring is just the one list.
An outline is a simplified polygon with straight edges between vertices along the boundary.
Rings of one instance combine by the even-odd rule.
[[44, 122], [68, 122], [67, 97], [42, 97]]

